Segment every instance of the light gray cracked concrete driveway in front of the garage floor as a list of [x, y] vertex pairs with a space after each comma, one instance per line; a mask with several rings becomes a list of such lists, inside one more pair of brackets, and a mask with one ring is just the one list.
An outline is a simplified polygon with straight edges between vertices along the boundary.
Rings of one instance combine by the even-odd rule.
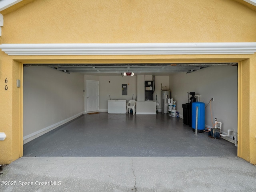
[[0, 191], [255, 192], [255, 178], [238, 157], [22, 157]]

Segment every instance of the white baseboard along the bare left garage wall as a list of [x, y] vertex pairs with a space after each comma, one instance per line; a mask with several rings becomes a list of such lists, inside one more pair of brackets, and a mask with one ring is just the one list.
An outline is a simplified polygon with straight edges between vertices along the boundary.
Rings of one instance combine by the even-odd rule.
[[58, 123], [55, 123], [55, 124], [50, 125], [50, 126], [48, 126], [46, 128], [43, 128], [43, 129], [41, 129], [39, 131], [36, 131], [36, 132], [34, 132], [32, 134], [24, 136], [23, 137], [23, 144], [26, 144], [26, 143], [34, 140], [35, 138], [38, 138], [38, 137], [42, 136], [43, 134], [46, 134], [47, 132], [49, 132], [51, 130], [54, 130], [55, 128], [57, 128], [57, 127], [65, 124], [65, 123], [67, 123], [67, 122], [69, 122], [69, 121], [79, 117], [82, 114], [84, 114], [84, 112], [80, 112], [80, 113], [78, 113], [78, 114], [76, 114], [76, 115], [74, 115], [74, 116], [72, 116], [70, 118], [64, 119], [64, 120], [62, 120], [62, 121], [60, 121]]

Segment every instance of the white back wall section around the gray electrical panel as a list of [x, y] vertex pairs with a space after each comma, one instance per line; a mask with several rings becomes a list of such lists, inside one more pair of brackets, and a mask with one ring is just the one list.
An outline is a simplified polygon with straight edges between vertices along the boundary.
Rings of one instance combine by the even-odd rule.
[[[108, 110], [108, 100], [135, 100], [137, 95], [136, 76], [99, 76], [100, 110]], [[122, 95], [122, 84], [127, 84], [127, 95]]]

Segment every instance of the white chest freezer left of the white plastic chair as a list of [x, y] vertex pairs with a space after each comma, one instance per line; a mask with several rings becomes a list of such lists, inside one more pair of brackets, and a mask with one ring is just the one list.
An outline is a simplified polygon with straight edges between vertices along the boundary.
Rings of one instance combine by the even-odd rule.
[[108, 100], [108, 114], [126, 114], [126, 100]]

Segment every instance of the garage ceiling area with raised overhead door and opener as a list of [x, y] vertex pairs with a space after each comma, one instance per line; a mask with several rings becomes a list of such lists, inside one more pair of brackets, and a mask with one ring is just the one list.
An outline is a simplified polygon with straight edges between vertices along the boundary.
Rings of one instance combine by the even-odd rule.
[[66, 73], [91, 75], [121, 75], [124, 72], [137, 74], [165, 75], [176, 72], [191, 73], [209, 66], [238, 63], [154, 63], [154, 64], [24, 64], [24, 66], [48, 66]]

